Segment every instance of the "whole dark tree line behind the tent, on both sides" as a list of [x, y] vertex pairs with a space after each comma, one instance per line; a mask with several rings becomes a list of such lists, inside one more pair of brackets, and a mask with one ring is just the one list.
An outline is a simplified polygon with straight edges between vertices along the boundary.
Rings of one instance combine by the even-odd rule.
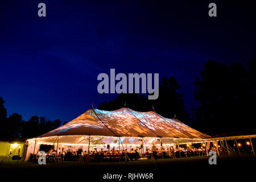
[[[185, 110], [184, 93], [174, 76], [160, 80], [159, 97], [148, 100], [144, 94], [119, 94], [113, 101], [104, 101], [98, 109], [116, 110], [123, 106], [137, 111], [155, 110], [167, 118], [181, 122], [209, 135], [239, 131], [254, 132], [256, 110], [256, 57], [243, 65], [209, 60], [200, 77], [194, 81], [197, 105], [189, 116]], [[152, 108], [154, 106], [154, 109]], [[0, 97], [0, 136], [31, 138], [47, 133], [61, 125], [59, 119], [33, 116], [23, 121], [14, 113], [7, 117]]]

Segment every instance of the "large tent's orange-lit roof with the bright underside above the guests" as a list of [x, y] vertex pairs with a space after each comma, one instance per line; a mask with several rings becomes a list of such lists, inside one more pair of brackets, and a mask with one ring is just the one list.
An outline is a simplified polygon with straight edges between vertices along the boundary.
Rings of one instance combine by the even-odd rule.
[[153, 144], [201, 143], [207, 138], [210, 137], [179, 120], [164, 118], [154, 111], [139, 112], [126, 107], [114, 111], [89, 109], [55, 130], [28, 139], [26, 159], [39, 150], [40, 144], [64, 150], [69, 146], [82, 147], [86, 151], [121, 145], [129, 150], [141, 146], [151, 148]]

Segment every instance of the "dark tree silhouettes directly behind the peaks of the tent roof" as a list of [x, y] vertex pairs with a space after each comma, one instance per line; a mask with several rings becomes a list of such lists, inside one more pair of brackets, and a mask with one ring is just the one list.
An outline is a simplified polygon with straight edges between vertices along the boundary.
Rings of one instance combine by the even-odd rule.
[[126, 107], [137, 111], [150, 111], [154, 106], [155, 111], [164, 117], [177, 118], [183, 122], [188, 122], [188, 114], [184, 109], [183, 93], [180, 93], [181, 85], [175, 77], [164, 77], [160, 81], [159, 97], [157, 100], [148, 100], [147, 96], [136, 93], [122, 93], [113, 101], [103, 102], [98, 106], [102, 110], [120, 109], [126, 104]]

